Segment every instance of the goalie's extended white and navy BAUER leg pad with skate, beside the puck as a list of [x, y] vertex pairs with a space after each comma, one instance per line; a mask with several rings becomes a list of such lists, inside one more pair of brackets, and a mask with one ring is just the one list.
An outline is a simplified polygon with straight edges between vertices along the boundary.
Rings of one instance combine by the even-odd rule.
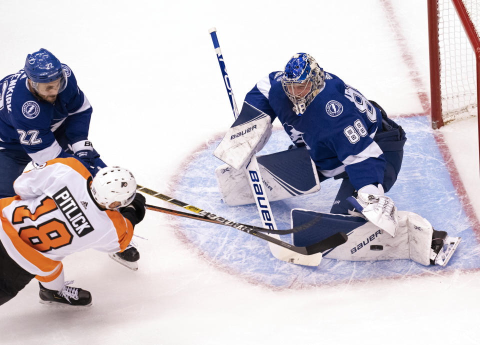
[[408, 211], [398, 211], [398, 230], [394, 237], [362, 217], [298, 208], [291, 210], [291, 224], [304, 224], [318, 216], [321, 219], [317, 223], [292, 234], [293, 244], [308, 245], [333, 232], [345, 232], [348, 240], [324, 251], [325, 258], [350, 261], [411, 259], [423, 265], [444, 266], [461, 240], [434, 230], [426, 219]]

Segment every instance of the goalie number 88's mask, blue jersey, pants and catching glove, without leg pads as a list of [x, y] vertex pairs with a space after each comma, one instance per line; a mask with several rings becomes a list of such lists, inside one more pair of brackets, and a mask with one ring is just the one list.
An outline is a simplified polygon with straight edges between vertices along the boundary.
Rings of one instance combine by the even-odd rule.
[[277, 117], [294, 148], [306, 147], [320, 182], [343, 179], [331, 213], [355, 208], [394, 232], [395, 206], [384, 192], [396, 180], [406, 137], [377, 103], [325, 72], [310, 55], [297, 53], [283, 71], [269, 73], [246, 94], [232, 127], [258, 112], [271, 121]]

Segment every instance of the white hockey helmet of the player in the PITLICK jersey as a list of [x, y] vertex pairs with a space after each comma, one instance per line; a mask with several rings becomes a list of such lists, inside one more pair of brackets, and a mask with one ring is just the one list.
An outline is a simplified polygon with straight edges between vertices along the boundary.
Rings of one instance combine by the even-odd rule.
[[[95, 201], [108, 209], [127, 206], [135, 197], [136, 180], [133, 174], [123, 167], [107, 166], [96, 173], [90, 185]], [[118, 201], [120, 205], [110, 207]]]

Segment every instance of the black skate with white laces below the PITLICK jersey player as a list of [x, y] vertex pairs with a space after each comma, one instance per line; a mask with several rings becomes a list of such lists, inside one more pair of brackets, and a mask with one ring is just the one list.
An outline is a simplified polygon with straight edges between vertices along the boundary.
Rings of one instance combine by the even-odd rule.
[[65, 281], [63, 288], [60, 291], [50, 290], [44, 287], [40, 282], [40, 303], [64, 303], [69, 305], [91, 305], [91, 294], [87, 290], [79, 287], [67, 286], [73, 283], [72, 280]]

